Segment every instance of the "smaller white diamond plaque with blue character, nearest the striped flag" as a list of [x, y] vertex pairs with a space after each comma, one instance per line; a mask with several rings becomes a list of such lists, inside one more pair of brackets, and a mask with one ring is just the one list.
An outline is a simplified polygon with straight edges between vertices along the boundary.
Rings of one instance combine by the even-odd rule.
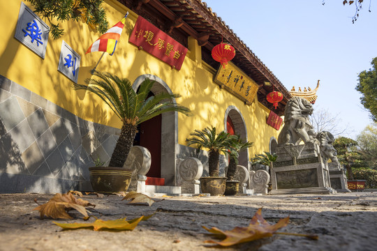
[[66, 42], [63, 41], [63, 43], [61, 43], [58, 70], [75, 83], [77, 83], [80, 59], [79, 54]]

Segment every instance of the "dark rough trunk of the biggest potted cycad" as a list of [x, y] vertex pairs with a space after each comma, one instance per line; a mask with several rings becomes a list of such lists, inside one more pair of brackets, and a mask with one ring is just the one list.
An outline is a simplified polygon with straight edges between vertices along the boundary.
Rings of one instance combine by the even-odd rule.
[[137, 126], [131, 124], [124, 124], [121, 127], [121, 133], [117, 144], [115, 145], [114, 152], [111, 155], [109, 167], [123, 167], [124, 162], [126, 162], [128, 157], [128, 153], [130, 153], [133, 139], [135, 139], [137, 131]]

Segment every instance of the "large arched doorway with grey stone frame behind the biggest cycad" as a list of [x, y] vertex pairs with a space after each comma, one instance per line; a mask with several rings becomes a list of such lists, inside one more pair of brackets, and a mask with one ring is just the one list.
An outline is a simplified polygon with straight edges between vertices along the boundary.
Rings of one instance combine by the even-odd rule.
[[[133, 89], [136, 91], [140, 84], [149, 78], [154, 82], [151, 93], [172, 93], [168, 84], [155, 75], [141, 75], [133, 82]], [[173, 100], [175, 102], [175, 100]], [[175, 152], [178, 147], [177, 112], [165, 112], [154, 119], [140, 124], [140, 133], [135, 141], [140, 146], [146, 147], [151, 152], [151, 168], [147, 177], [163, 178], [165, 185], [177, 184], [177, 168]], [[137, 144], [137, 143], [136, 143]], [[157, 185], [161, 185], [157, 184]]]

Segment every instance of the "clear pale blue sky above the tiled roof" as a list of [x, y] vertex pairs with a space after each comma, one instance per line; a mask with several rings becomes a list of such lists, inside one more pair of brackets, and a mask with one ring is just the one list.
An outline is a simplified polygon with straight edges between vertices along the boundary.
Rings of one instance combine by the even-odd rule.
[[203, 0], [286, 86], [316, 87], [314, 109], [327, 109], [355, 137], [372, 123], [355, 90], [357, 75], [377, 56], [377, 3], [355, 6], [341, 0]]

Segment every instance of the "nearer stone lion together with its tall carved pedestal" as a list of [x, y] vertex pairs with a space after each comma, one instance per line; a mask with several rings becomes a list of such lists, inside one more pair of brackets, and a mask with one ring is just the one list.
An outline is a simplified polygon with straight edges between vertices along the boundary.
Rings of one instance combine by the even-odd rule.
[[[311, 103], [304, 98], [294, 97], [288, 101], [278, 144], [272, 149], [278, 158], [271, 168], [270, 194], [337, 192], [331, 188], [327, 165], [328, 158], [337, 160], [334, 153], [330, 153], [332, 145], [320, 144], [321, 138], [318, 139], [320, 134], [314, 132], [309, 121], [312, 112]], [[323, 152], [323, 149], [327, 150]]]

